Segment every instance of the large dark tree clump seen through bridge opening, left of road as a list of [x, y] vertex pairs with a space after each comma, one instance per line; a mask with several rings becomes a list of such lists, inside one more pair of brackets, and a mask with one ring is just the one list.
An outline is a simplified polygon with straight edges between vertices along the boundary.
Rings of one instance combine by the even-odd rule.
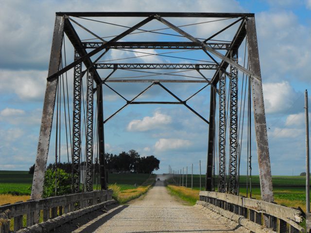
[[160, 160], [150, 155], [140, 157], [136, 150], [122, 151], [119, 155], [105, 154], [109, 172], [152, 173], [159, 169]]

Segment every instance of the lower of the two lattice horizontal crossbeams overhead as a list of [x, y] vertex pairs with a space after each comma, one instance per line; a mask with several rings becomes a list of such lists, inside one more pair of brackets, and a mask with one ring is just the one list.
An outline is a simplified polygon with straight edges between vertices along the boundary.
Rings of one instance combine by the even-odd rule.
[[98, 63], [96, 69], [217, 69], [216, 64]]

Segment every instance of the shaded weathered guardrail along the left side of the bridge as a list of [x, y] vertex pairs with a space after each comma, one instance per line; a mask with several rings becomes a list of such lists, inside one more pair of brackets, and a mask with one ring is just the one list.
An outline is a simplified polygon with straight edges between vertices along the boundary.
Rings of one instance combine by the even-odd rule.
[[42, 222], [98, 203], [112, 200], [112, 190], [100, 190], [86, 193], [69, 194], [40, 200], [28, 200], [0, 206], [0, 233], [7, 233], [10, 219], [14, 219], [14, 232], [23, 228], [23, 216], [26, 215], [26, 226]]

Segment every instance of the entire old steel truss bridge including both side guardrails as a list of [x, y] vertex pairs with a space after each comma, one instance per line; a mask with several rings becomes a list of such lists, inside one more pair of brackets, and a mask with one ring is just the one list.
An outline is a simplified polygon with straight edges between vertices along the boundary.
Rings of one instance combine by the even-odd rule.
[[[97, 35], [91, 29], [83, 26], [81, 19], [98, 21], [100, 17], [126, 17], [139, 18], [139, 22], [132, 27], [126, 27], [118, 35], [106, 40], [105, 37]], [[170, 19], [167, 19], [170, 18]], [[207, 39], [196, 38], [183, 30], [183, 26], [176, 26], [171, 22], [178, 18], [213, 18], [235, 19], [225, 28], [220, 28], [217, 33], [210, 35]], [[80, 20], [78, 22], [78, 19]], [[136, 33], [153, 33], [141, 29], [142, 26], [151, 22], [158, 21], [167, 28], [178, 34], [179, 38], [187, 39], [188, 42], [136, 42], [121, 41], [125, 36]], [[90, 33], [93, 39], [82, 40], [78, 31]], [[231, 29], [237, 28], [230, 41], [215, 40], [217, 35]], [[156, 30], [155, 30], [156, 31]], [[155, 33], [155, 32], [154, 32]], [[165, 34], [165, 33], [162, 33]], [[70, 62], [64, 65], [63, 53], [66, 39], [73, 47], [74, 53]], [[169, 34], [172, 35], [172, 34]], [[245, 41], [247, 47], [248, 66], [239, 64], [239, 48]], [[136, 50], [145, 55], [164, 55], [144, 52], [144, 50], [200, 50], [203, 51], [210, 62], [199, 63], [107, 63], [101, 62], [104, 55], [110, 50]], [[191, 59], [190, 59], [191, 60]], [[194, 59], [192, 59], [194, 60]], [[45, 170], [47, 166], [50, 140], [52, 134], [52, 121], [55, 118], [54, 110], [57, 105], [58, 111], [58, 91], [61, 77], [64, 77], [69, 70], [73, 70], [73, 101], [71, 119], [71, 151], [70, 162], [72, 164], [72, 194], [66, 196], [56, 196], [50, 199], [42, 199]], [[103, 70], [109, 71], [108, 75], [102, 74]], [[150, 75], [150, 79], [131, 79], [131, 78], [112, 78], [117, 70], [140, 70]], [[153, 71], [151, 71], [153, 70]], [[178, 75], [177, 72], [159, 73], [157, 70], [193, 70], [197, 72], [200, 79], [189, 75]], [[213, 71], [213, 75], [206, 77], [203, 71]], [[259, 164], [259, 178], [261, 200], [241, 198], [238, 196], [238, 163], [239, 163], [239, 138], [238, 138], [238, 117], [239, 117], [239, 98], [238, 81], [239, 73], [248, 78], [251, 88], [251, 100], [253, 103], [254, 130], [256, 133], [257, 156]], [[170, 79], [156, 79], [152, 75], [165, 75]], [[181, 78], [180, 78], [181, 77]], [[177, 79], [178, 78], [178, 79]], [[64, 80], [64, 79], [63, 79]], [[229, 90], [226, 90], [226, 80], [229, 81]], [[85, 86], [83, 87], [83, 82]], [[95, 87], [94, 87], [95, 83]], [[120, 92], [115, 90], [110, 83], [149, 83], [149, 85], [134, 98], [128, 100]], [[203, 83], [204, 87], [199, 89], [188, 99], [182, 100], [173, 93], [166, 83]], [[170, 94], [175, 101], [136, 101], [143, 93], [153, 86], [159, 86]], [[111, 116], [104, 119], [103, 107], [103, 86], [120, 96], [125, 104]], [[64, 88], [64, 86], [63, 86]], [[82, 101], [83, 90], [86, 90], [86, 100]], [[200, 93], [203, 89], [210, 88], [209, 116], [205, 117], [195, 111], [188, 103], [193, 96]], [[96, 112], [94, 114], [94, 101], [96, 99]], [[229, 101], [227, 101], [227, 99]], [[65, 98], [64, 98], [65, 101]], [[216, 102], [218, 102], [218, 119], [216, 124]], [[130, 104], [181, 104], [188, 108], [193, 114], [200, 117], [208, 124], [207, 140], [207, 173], [205, 189], [200, 193], [199, 203], [212, 208], [214, 211], [231, 213], [239, 216], [240, 223], [255, 228], [252, 231], [259, 231], [257, 225], [264, 225], [274, 231], [286, 232], [286, 225], [290, 232], [301, 232], [303, 229], [297, 224], [301, 221], [300, 212], [287, 207], [273, 204], [273, 186], [271, 178], [269, 146], [267, 139], [266, 118], [264, 111], [262, 82], [259, 66], [258, 43], [255, 26], [254, 14], [245, 13], [170, 13], [170, 12], [58, 12], [55, 17], [54, 33], [52, 37], [52, 50], [47, 77], [46, 92], [43, 105], [41, 128], [38, 140], [37, 154], [35, 159], [35, 174], [32, 184], [31, 201], [17, 204], [5, 205], [0, 207], [2, 217], [14, 218], [14, 230], [18, 231], [22, 226], [22, 215], [27, 215], [28, 230], [39, 221], [38, 213], [44, 211], [43, 221], [46, 222], [47, 229], [57, 227], [54, 223], [49, 223], [49, 218], [60, 217], [65, 214], [72, 219], [81, 216], [105, 204], [113, 202], [111, 191], [107, 190], [107, 177], [105, 170], [104, 157], [104, 123], [118, 114], [122, 109]], [[228, 106], [229, 104], [229, 106]], [[85, 107], [84, 107], [85, 105]], [[83, 110], [83, 108], [85, 110]], [[228, 110], [227, 110], [228, 109]], [[56, 116], [58, 112], [56, 111]], [[85, 111], [84, 117], [82, 112]], [[66, 113], [65, 113], [66, 114]], [[60, 116], [60, 115], [59, 115]], [[84, 118], [84, 119], [83, 119]], [[228, 119], [227, 119], [228, 118]], [[226, 139], [226, 122], [229, 127], [229, 139]], [[57, 126], [56, 126], [57, 127]], [[66, 126], [67, 127], [67, 126]], [[216, 131], [218, 138], [215, 136]], [[57, 132], [57, 129], [56, 129]], [[84, 192], [81, 192], [81, 153], [82, 153], [82, 133], [85, 133], [85, 184]], [[57, 137], [57, 136], [56, 136]], [[97, 138], [95, 147], [94, 137]], [[217, 140], [218, 139], [218, 140]], [[226, 141], [229, 141], [229, 167], [226, 167]], [[214, 161], [215, 144], [218, 145], [218, 158]], [[102, 191], [93, 191], [94, 169], [94, 148], [99, 158], [100, 187]], [[57, 157], [57, 156], [56, 156]], [[214, 191], [213, 167], [218, 163], [218, 192]], [[60, 208], [61, 207], [61, 208]], [[59, 213], [57, 213], [57, 208]], [[50, 210], [51, 213], [50, 214]], [[80, 209], [80, 210], [79, 210]], [[9, 212], [5, 212], [9, 210]], [[80, 211], [80, 212], [79, 212]], [[84, 211], [83, 213], [81, 211]], [[67, 216], [68, 213], [74, 213]], [[225, 215], [224, 214], [224, 215]], [[227, 214], [226, 214], [227, 215]], [[244, 217], [244, 218], [241, 218]], [[65, 219], [65, 218], [64, 218]], [[262, 221], [263, 219], [263, 221]], [[62, 220], [62, 223], [64, 220]], [[251, 224], [249, 222], [252, 222]], [[40, 223], [43, 224], [43, 223]], [[36, 226], [41, 226], [41, 225]], [[50, 225], [49, 225], [50, 224]], [[52, 224], [52, 225], [51, 225]], [[257, 224], [257, 225], [256, 225]], [[5, 224], [3, 225], [5, 226]], [[258, 226], [257, 226], [258, 227]], [[6, 231], [5, 227], [1, 228]], [[4, 230], [3, 230], [4, 229]], [[255, 229], [255, 230], [254, 230]], [[257, 230], [256, 230], [257, 229]], [[285, 229], [285, 230], [284, 230]], [[26, 230], [25, 230], [26, 231]], [[259, 231], [260, 232], [260, 231]]]

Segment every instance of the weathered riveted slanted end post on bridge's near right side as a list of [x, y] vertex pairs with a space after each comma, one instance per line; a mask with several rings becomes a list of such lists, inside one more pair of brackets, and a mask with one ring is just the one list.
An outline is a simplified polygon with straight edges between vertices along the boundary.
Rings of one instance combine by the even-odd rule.
[[255, 17], [249, 17], [246, 22], [249, 69], [257, 77], [251, 76], [253, 96], [255, 133], [257, 140], [259, 180], [261, 199], [273, 201], [272, 177], [270, 167], [269, 146], [267, 137], [266, 116], [262, 94], [259, 53], [255, 26]]

